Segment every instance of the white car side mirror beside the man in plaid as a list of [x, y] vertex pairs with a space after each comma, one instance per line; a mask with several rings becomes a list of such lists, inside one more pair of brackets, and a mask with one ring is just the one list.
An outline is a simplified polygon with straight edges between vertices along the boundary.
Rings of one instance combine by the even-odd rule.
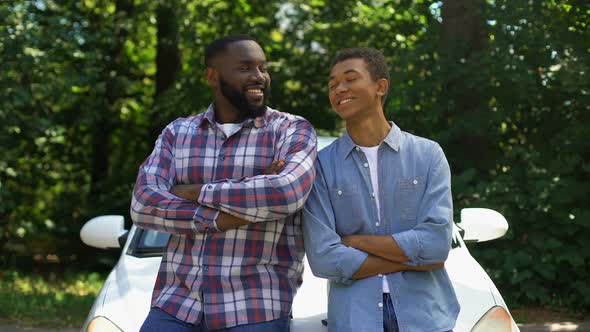
[[[88, 220], [80, 230], [86, 245], [100, 249], [122, 248], [127, 235], [125, 218], [118, 215], [98, 216]], [[123, 240], [123, 241], [121, 241]], [[123, 242], [123, 243], [121, 243]]]

